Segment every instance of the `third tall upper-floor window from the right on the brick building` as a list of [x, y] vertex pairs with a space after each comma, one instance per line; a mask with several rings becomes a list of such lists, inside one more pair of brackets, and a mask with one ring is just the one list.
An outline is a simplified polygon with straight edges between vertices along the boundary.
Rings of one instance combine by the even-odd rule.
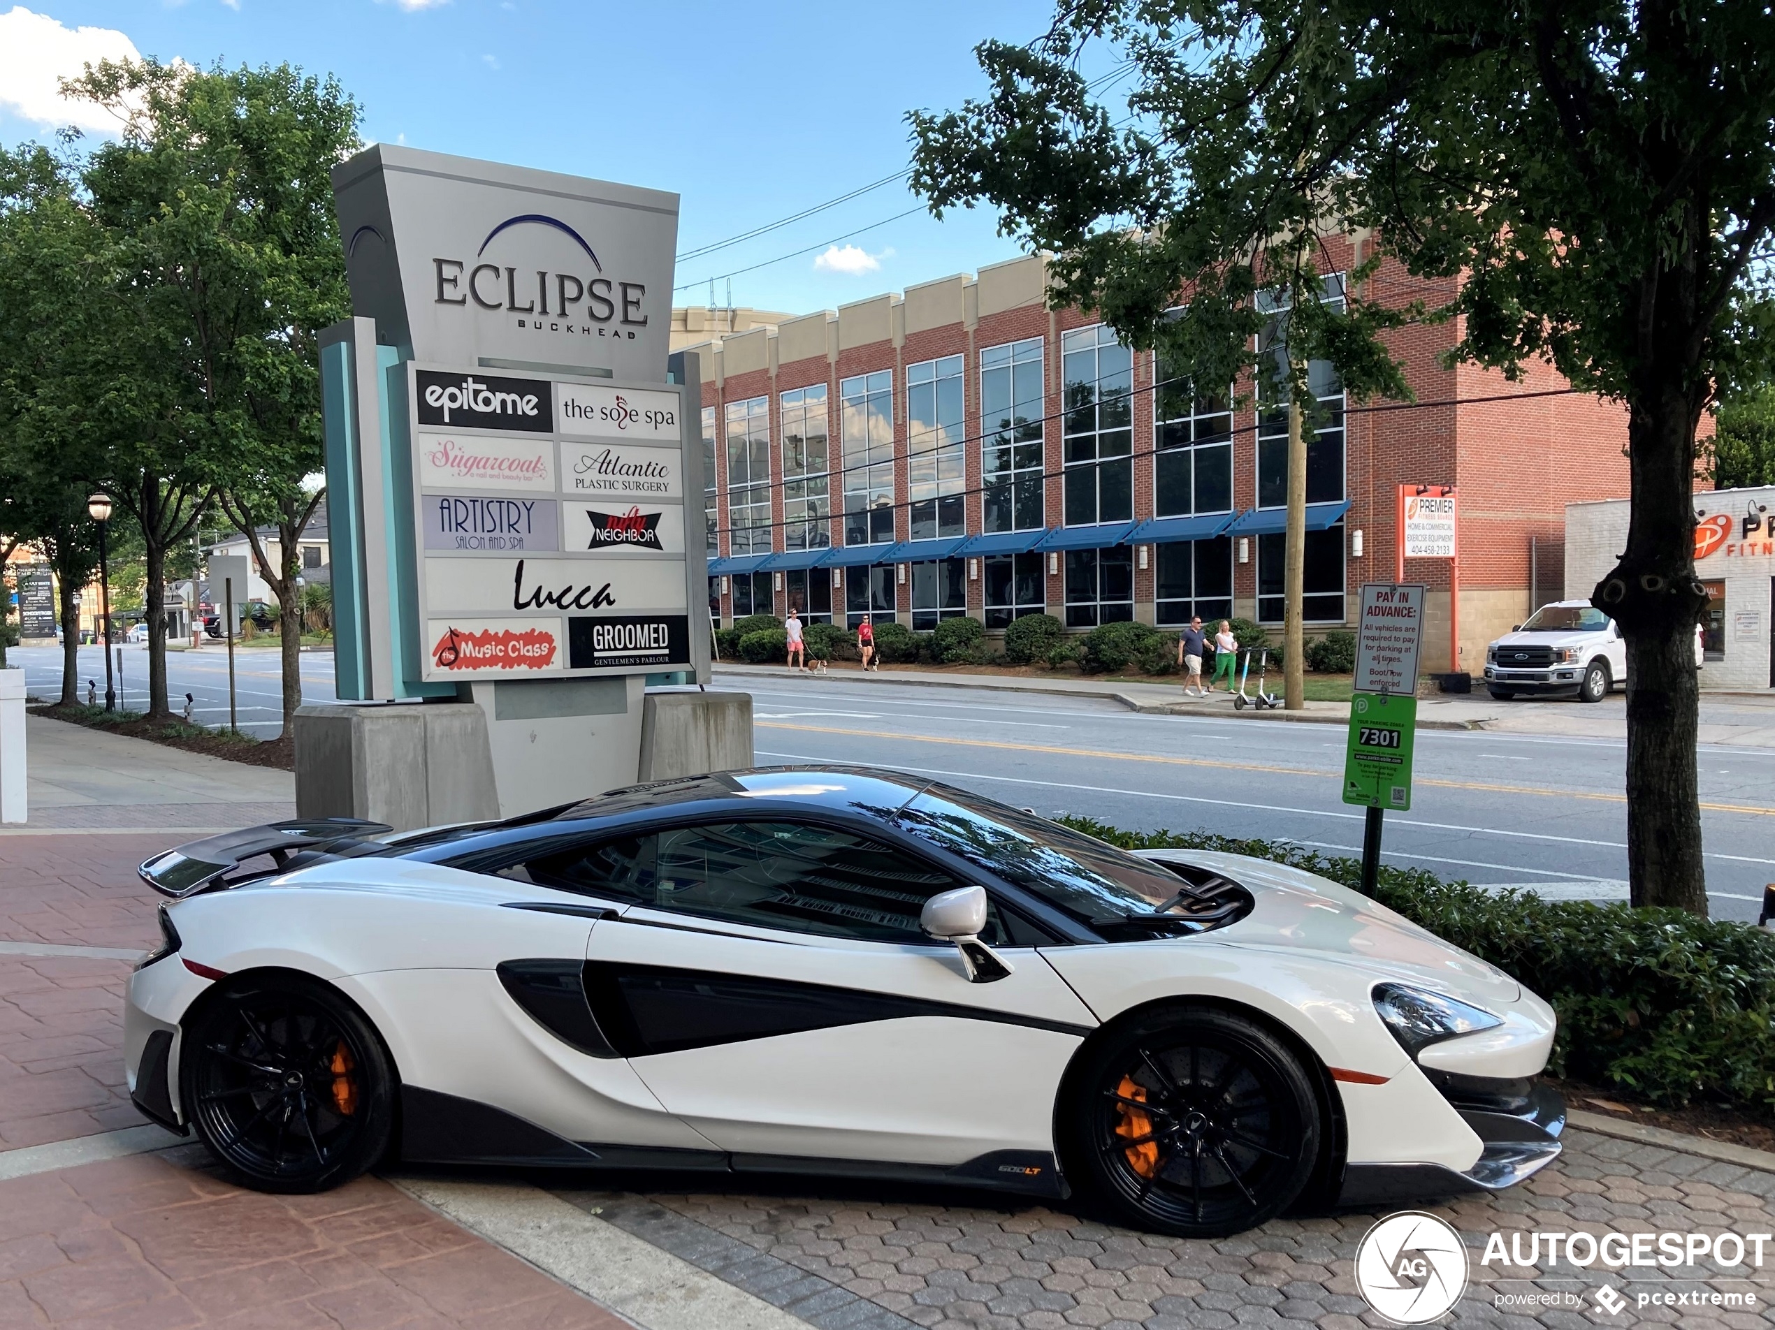
[[1134, 516], [1134, 356], [1108, 325], [1061, 333], [1067, 525]]

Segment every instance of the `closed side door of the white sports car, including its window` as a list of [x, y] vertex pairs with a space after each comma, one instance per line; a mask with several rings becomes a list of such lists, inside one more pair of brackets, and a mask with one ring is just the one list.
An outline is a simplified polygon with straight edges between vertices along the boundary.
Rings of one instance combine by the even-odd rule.
[[[891, 835], [792, 818], [660, 830], [588, 943], [593, 1014], [673, 1114], [737, 1156], [953, 1167], [1053, 1151], [1095, 1018], [994, 904], [969, 982], [918, 927], [966, 885]], [[1045, 936], [1042, 938], [1045, 940]]]

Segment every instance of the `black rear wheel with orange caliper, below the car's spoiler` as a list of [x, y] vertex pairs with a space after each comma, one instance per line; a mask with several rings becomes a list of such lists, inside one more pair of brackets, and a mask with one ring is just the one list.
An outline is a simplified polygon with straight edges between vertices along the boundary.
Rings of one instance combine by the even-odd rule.
[[325, 984], [229, 981], [185, 1029], [179, 1098], [241, 1186], [325, 1192], [389, 1146], [394, 1076], [382, 1041]]

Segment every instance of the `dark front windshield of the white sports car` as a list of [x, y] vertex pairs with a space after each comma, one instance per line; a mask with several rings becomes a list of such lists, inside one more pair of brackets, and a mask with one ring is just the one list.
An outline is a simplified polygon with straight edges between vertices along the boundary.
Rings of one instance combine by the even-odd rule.
[[1102, 841], [946, 786], [927, 789], [895, 821], [1086, 922], [1150, 915], [1182, 887]]

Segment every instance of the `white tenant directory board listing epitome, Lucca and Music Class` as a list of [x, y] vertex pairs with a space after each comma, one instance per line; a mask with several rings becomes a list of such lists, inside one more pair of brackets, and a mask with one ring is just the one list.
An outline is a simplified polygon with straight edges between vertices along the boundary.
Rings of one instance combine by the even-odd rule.
[[680, 394], [408, 374], [424, 677], [689, 665]]

